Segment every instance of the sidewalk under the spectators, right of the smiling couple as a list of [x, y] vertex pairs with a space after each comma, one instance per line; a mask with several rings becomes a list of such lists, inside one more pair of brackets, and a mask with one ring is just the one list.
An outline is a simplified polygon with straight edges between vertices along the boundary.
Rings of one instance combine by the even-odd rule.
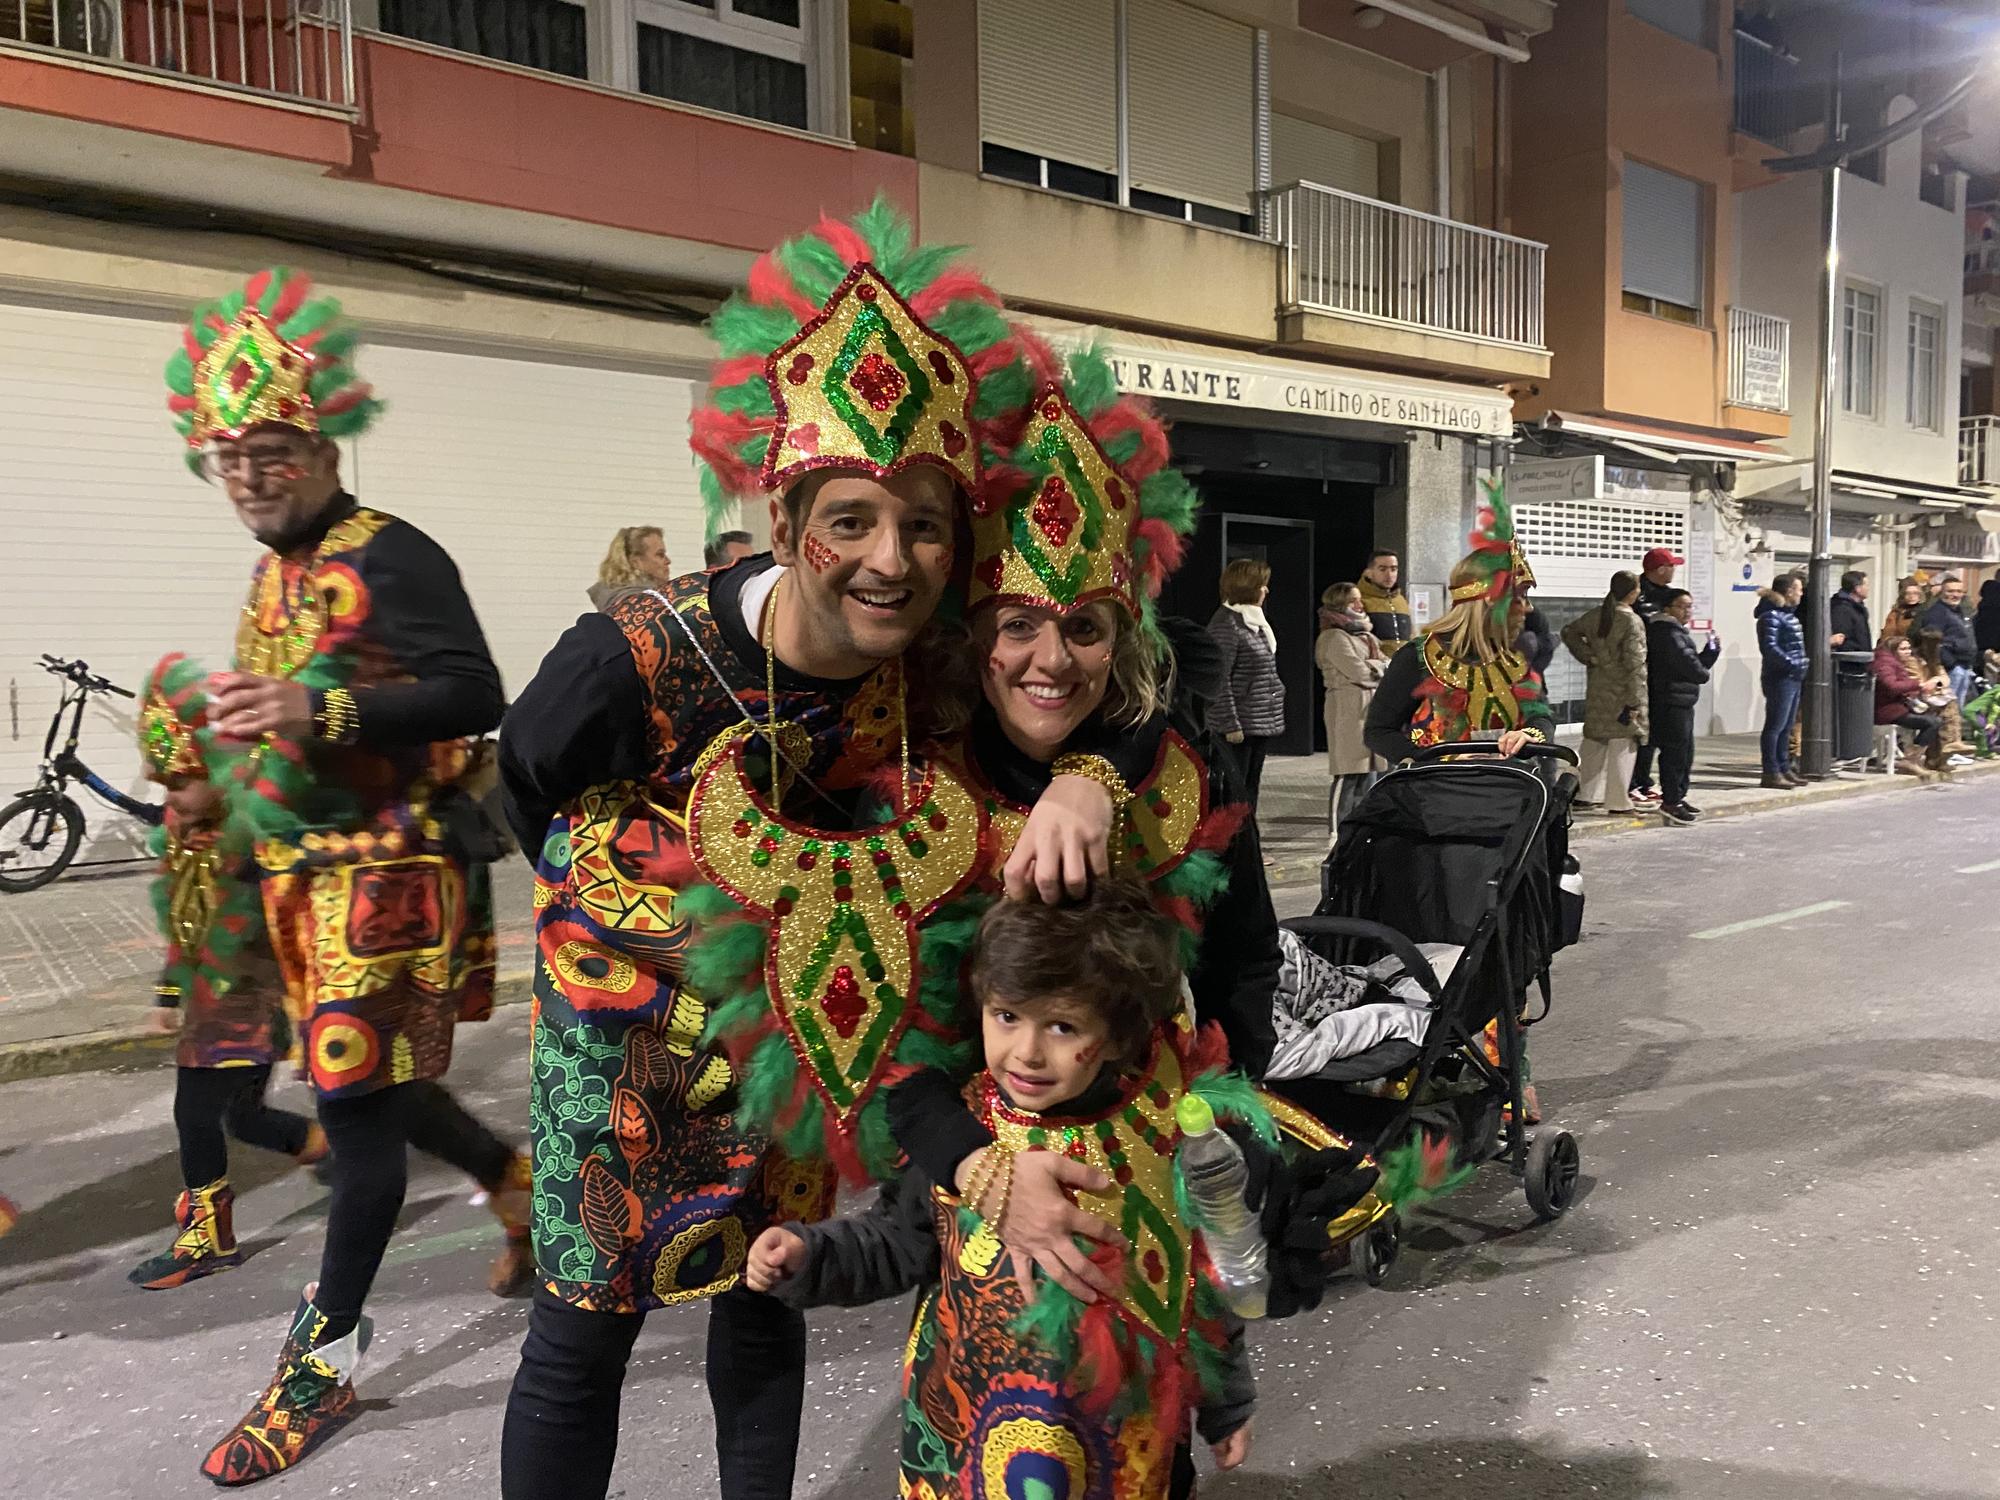
[[[1566, 740], [1566, 744], [1570, 744]], [[1572, 744], [1574, 748], [1574, 744]], [[2000, 772], [2000, 760], [1982, 760], [1954, 772], [1954, 780], [1970, 780]], [[1768, 792], [1758, 786], [1758, 736], [1714, 734], [1694, 742], [1694, 786], [1690, 802], [1702, 810], [1702, 822], [1740, 818], [1752, 812], [1826, 802], [1842, 796], [1914, 792], [1926, 782], [1914, 776], [1842, 774], [1790, 792]], [[1278, 916], [1310, 912], [1318, 900], [1320, 860], [1326, 858], [1326, 756], [1272, 756], [1264, 762], [1264, 792], [1258, 806], [1258, 828], [1264, 852], [1274, 860], [1270, 870], [1272, 900]], [[1666, 836], [1670, 828], [1660, 814], [1576, 814], [1572, 840], [1596, 838], [1634, 828]]]

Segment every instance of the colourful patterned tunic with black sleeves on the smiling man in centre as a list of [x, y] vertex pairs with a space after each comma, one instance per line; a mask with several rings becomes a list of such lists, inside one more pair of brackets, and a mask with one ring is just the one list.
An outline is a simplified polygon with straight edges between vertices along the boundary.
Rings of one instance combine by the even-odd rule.
[[[768, 566], [680, 578], [586, 616], [502, 742], [516, 832], [556, 810], [536, 836], [536, 1262], [554, 1292], [596, 1310], [724, 1292], [760, 1228], [832, 1208], [824, 1164], [786, 1158], [732, 1114], [738, 1080], [700, 1044], [708, 1006], [684, 988], [688, 924], [674, 910], [696, 878], [688, 794], [744, 712], [762, 726], [772, 708], [740, 618], [744, 582]], [[774, 666], [784, 808], [824, 826], [900, 750], [896, 670], [824, 682]], [[760, 738], [746, 766], [770, 786]]]

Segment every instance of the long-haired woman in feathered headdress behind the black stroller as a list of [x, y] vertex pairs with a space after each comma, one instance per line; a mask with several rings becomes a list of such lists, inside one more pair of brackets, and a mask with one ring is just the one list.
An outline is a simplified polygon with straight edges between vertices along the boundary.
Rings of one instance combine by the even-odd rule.
[[1498, 484], [1486, 486], [1468, 540], [1472, 550], [1452, 568], [1452, 608], [1416, 650], [1390, 658], [1368, 708], [1368, 748], [1392, 766], [1434, 744], [1492, 740], [1510, 756], [1556, 736], [1542, 684], [1516, 650], [1534, 572]]

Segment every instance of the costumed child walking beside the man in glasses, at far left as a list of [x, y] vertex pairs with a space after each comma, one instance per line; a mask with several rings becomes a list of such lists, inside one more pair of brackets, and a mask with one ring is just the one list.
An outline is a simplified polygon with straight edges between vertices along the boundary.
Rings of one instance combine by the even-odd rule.
[[302, 1166], [326, 1158], [318, 1122], [264, 1102], [272, 1064], [290, 1050], [284, 980], [264, 936], [264, 902], [250, 822], [228, 800], [250, 746], [208, 722], [208, 684], [184, 656], [164, 658], [146, 682], [140, 756], [166, 788], [152, 846], [160, 856], [154, 910], [166, 942], [156, 1014], [180, 1012], [174, 1048], [174, 1130], [182, 1192], [174, 1238], [132, 1268], [148, 1292], [242, 1264], [228, 1140], [284, 1152]]

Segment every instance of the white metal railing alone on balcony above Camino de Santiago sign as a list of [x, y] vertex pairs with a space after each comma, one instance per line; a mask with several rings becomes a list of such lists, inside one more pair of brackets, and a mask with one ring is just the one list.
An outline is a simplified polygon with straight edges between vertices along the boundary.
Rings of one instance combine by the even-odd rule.
[[1548, 246], [1292, 182], [1264, 194], [1284, 250], [1282, 306], [1546, 350]]

